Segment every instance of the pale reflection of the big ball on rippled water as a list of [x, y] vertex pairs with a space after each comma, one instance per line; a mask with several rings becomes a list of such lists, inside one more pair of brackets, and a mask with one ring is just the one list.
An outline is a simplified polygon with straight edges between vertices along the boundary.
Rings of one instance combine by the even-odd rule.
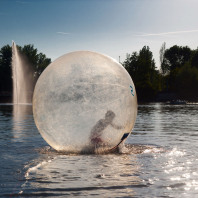
[[[30, 167], [23, 193], [39, 188], [48, 195], [111, 196], [133, 195], [131, 186], [141, 184], [136, 157], [128, 155], [56, 155]], [[124, 189], [124, 191], [123, 191]], [[115, 191], [115, 192], [114, 192]], [[88, 193], [89, 192], [89, 193]]]

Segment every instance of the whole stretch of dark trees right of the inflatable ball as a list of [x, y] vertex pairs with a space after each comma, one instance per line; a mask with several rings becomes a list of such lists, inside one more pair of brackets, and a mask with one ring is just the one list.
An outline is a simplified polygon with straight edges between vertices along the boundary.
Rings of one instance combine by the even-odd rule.
[[176, 99], [198, 100], [198, 48], [174, 45], [160, 51], [160, 69], [156, 68], [148, 46], [128, 54], [122, 63], [131, 75], [138, 101], [156, 101], [159, 93], [174, 93]]

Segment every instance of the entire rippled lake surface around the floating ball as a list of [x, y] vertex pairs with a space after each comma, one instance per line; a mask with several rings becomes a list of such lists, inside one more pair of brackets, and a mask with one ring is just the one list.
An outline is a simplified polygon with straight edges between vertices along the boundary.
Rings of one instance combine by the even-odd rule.
[[0, 196], [198, 197], [197, 104], [139, 105], [126, 147], [108, 155], [55, 152], [31, 108], [0, 105]]

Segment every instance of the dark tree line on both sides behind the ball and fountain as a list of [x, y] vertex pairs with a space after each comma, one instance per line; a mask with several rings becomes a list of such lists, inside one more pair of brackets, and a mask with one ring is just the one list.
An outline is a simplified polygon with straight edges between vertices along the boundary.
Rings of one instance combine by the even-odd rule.
[[[34, 45], [18, 46], [26, 56], [34, 73], [35, 81], [51, 63], [45, 54], [39, 53]], [[163, 43], [160, 51], [160, 68], [157, 69], [149, 46], [139, 52], [127, 54], [122, 65], [131, 75], [138, 101], [156, 101], [159, 93], [174, 93], [178, 99], [198, 100], [198, 48], [174, 45], [166, 49]], [[12, 93], [12, 47], [0, 49], [0, 93]]]

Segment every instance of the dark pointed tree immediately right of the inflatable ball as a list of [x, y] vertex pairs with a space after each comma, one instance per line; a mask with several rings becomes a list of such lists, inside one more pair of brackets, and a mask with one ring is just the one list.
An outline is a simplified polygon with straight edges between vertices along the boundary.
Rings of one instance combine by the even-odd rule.
[[138, 100], [153, 100], [160, 89], [160, 75], [149, 47], [144, 46], [139, 53], [133, 52], [127, 57], [123, 66], [133, 78]]

